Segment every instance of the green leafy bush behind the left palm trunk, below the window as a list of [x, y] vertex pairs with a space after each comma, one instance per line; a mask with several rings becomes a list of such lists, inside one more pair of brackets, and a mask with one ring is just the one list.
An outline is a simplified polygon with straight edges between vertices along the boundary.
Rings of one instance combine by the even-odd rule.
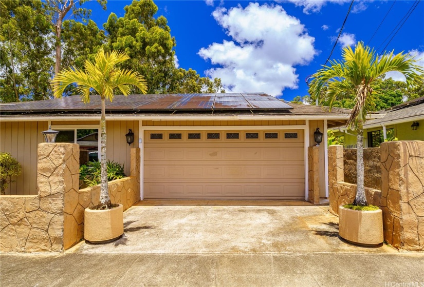
[[[125, 177], [124, 165], [118, 162], [108, 160], [107, 166], [107, 181], [120, 179]], [[93, 187], [100, 184], [100, 161], [89, 161], [87, 165], [80, 167], [80, 180], [87, 187]]]

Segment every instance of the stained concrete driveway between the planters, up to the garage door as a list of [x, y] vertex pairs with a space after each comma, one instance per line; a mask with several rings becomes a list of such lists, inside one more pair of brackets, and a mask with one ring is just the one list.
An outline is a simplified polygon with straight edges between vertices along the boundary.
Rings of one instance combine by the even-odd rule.
[[124, 235], [81, 242], [77, 253], [396, 252], [362, 248], [338, 236], [327, 206], [279, 200], [143, 200], [124, 213]]

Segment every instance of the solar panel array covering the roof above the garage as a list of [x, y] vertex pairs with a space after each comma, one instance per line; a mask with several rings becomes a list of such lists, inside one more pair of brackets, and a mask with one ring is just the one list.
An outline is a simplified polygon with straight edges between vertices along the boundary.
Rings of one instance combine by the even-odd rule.
[[[5, 111], [94, 111], [101, 109], [98, 95], [91, 96], [84, 104], [79, 96], [63, 97], [24, 103], [1, 104]], [[109, 111], [164, 111], [164, 110], [287, 110], [292, 109], [283, 101], [264, 93], [226, 94], [149, 94], [116, 95], [112, 102], [106, 101]]]

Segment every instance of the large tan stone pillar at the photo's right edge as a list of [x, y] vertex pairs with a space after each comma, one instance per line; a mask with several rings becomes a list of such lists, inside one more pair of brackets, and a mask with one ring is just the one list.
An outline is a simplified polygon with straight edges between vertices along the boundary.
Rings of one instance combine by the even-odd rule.
[[424, 141], [383, 142], [381, 204], [384, 240], [424, 250]]

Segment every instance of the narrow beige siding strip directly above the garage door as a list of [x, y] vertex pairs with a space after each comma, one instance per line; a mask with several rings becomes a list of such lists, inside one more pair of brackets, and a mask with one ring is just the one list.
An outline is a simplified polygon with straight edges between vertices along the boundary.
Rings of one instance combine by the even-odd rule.
[[305, 125], [304, 120], [144, 120], [145, 127], [164, 126], [300, 126]]

